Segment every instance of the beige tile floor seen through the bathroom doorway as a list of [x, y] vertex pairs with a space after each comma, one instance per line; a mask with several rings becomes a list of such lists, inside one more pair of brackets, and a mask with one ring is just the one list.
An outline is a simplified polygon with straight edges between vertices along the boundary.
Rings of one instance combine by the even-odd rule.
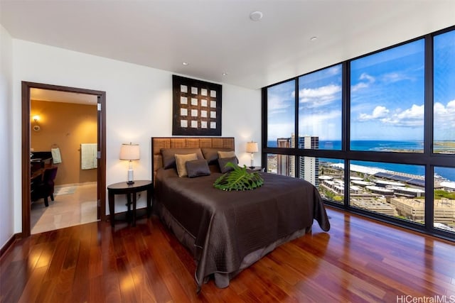
[[[59, 187], [55, 187], [55, 192]], [[43, 199], [31, 204], [31, 234], [97, 221], [97, 183], [76, 184], [73, 194], [54, 196], [49, 206]]]

